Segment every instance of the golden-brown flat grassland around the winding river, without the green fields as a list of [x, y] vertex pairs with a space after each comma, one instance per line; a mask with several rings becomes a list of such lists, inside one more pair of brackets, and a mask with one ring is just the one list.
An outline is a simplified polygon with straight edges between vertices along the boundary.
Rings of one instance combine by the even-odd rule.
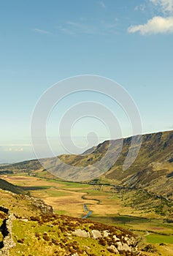
[[[55, 211], [63, 211], [72, 217], [81, 217], [85, 214], [84, 203], [88, 204], [93, 214], [131, 214], [133, 212], [131, 207], [126, 207], [125, 209], [121, 199], [117, 196], [109, 192], [93, 190], [89, 185], [86, 187], [83, 184], [79, 188], [74, 187], [73, 184], [57, 181], [50, 182], [43, 178], [31, 176], [4, 176], [3, 178], [12, 184], [28, 187], [28, 192], [32, 196], [45, 200], [45, 203], [53, 206]], [[37, 189], [30, 190], [29, 187], [37, 187]], [[42, 187], [47, 188], [42, 189]]]

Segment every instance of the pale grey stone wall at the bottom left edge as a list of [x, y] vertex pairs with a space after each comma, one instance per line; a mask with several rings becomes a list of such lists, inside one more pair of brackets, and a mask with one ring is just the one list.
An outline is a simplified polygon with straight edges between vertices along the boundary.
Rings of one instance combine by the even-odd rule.
[[8, 256], [9, 249], [15, 246], [15, 243], [12, 240], [12, 221], [15, 217], [8, 208], [0, 206], [0, 211], [3, 211], [5, 214], [7, 214], [7, 219], [4, 219], [0, 227], [3, 236], [3, 241], [1, 241], [0, 245], [0, 255]]

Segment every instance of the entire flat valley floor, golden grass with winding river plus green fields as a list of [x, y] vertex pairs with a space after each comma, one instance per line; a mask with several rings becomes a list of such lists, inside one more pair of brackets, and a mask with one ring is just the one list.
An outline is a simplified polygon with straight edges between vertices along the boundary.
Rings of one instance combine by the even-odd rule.
[[112, 192], [112, 187], [106, 185], [62, 182], [27, 175], [3, 178], [26, 187], [32, 196], [45, 200], [58, 214], [82, 218], [85, 216], [83, 205], [86, 203], [93, 212], [88, 219], [131, 230], [145, 243], [164, 243], [172, 247], [173, 224], [166, 222], [165, 217], [155, 213], [152, 207], [135, 209], [129, 206], [131, 191], [127, 194], [124, 189], [123, 192]]

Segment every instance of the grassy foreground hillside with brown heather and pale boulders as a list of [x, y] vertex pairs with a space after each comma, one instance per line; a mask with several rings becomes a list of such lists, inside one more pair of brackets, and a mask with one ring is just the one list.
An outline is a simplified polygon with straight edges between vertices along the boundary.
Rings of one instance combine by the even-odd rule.
[[[9, 255], [110, 256], [116, 248], [120, 252], [117, 255], [139, 255], [133, 233], [85, 219], [42, 214], [42, 208], [36, 207], [34, 202], [34, 198], [0, 189], [0, 205], [8, 208], [15, 216], [12, 222], [15, 246], [10, 249]], [[0, 210], [0, 224], [4, 219], [7, 219], [7, 214]], [[3, 233], [2, 226], [1, 230]], [[128, 247], [131, 252], [128, 252]]]

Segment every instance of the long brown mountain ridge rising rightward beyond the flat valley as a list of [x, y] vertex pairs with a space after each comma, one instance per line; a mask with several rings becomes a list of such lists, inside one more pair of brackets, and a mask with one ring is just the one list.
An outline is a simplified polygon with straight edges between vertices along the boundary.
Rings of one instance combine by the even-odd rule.
[[[106, 159], [101, 166], [96, 165], [96, 163], [107, 154], [109, 140], [89, 149], [84, 154], [61, 155], [51, 159], [42, 159], [43, 166], [46, 166], [47, 170], [42, 167], [38, 160], [31, 160], [1, 166], [0, 174], [28, 173], [47, 178], [52, 178], [55, 175], [67, 180], [77, 180], [77, 177], [83, 176], [84, 180], [91, 181], [94, 179], [94, 182], [98, 184], [115, 184], [122, 187], [147, 189], [147, 191], [173, 200], [173, 131], [142, 135], [139, 154], [128, 170], [123, 170], [123, 163], [131, 146], [131, 138], [122, 139], [122, 141], [122, 151], [118, 160], [112, 165], [109, 162], [117, 157], [120, 140], [111, 140], [109, 148], [111, 161]], [[96, 167], [93, 167], [94, 164]], [[78, 169], [73, 172], [73, 167]], [[102, 171], [104, 167], [107, 169], [106, 173]], [[99, 178], [95, 178], [95, 172]]]

